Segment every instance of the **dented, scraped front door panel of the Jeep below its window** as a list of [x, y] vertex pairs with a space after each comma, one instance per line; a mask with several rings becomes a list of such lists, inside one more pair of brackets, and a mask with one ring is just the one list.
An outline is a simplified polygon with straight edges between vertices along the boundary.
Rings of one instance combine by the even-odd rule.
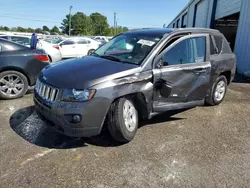
[[[155, 101], [188, 102], [204, 98], [210, 80], [211, 64], [186, 64], [162, 68], [156, 80]], [[165, 92], [165, 93], [163, 93]]]

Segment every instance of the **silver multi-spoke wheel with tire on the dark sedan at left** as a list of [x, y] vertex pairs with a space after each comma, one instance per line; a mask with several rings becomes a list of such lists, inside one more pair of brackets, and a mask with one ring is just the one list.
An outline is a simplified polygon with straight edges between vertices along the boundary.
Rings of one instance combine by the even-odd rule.
[[5, 71], [0, 73], [0, 98], [15, 99], [22, 97], [28, 90], [28, 80], [20, 72]]

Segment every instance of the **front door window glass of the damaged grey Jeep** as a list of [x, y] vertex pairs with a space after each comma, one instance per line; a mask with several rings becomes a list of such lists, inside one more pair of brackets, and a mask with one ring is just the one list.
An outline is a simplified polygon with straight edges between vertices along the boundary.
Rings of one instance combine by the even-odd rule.
[[204, 62], [206, 37], [183, 40], [163, 55], [164, 66]]

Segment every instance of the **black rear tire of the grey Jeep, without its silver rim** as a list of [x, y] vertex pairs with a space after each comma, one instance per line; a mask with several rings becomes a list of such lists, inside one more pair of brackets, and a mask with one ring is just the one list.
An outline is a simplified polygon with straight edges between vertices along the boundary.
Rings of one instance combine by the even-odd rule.
[[[215, 92], [216, 92], [216, 88], [217, 88], [218, 84], [221, 82], [224, 82], [224, 84], [225, 84], [225, 92], [224, 92], [224, 96], [220, 100], [218, 100], [215, 96]], [[225, 98], [226, 93], [227, 93], [227, 79], [225, 76], [221, 75], [215, 80], [215, 82], [212, 86], [212, 89], [210, 90], [210, 94], [206, 98], [205, 102], [207, 105], [210, 105], [210, 106], [219, 105], [223, 101], [223, 99]]]

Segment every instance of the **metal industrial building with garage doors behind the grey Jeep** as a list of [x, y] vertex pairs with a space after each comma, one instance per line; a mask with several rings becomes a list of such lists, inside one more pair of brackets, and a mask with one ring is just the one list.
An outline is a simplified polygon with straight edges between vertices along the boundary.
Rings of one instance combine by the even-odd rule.
[[167, 27], [218, 29], [237, 56], [237, 72], [250, 76], [250, 0], [191, 0]]

